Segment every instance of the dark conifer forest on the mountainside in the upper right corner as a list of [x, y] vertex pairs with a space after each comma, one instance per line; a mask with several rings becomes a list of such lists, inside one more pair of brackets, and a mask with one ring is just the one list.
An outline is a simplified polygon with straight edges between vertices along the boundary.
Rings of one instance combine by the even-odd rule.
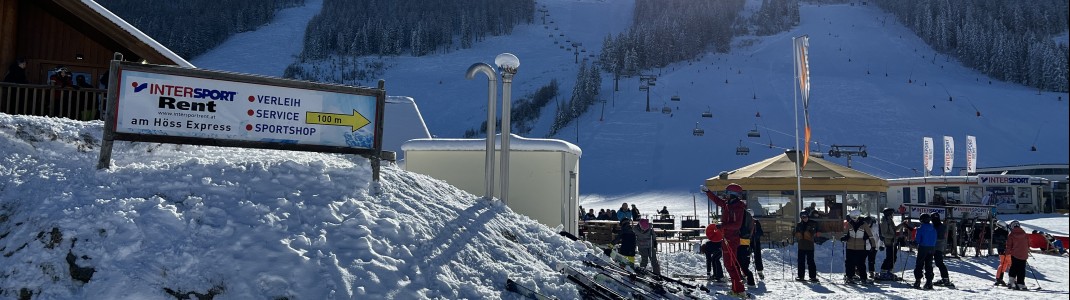
[[[1067, 91], [1066, 0], [877, 0], [937, 52], [996, 79]], [[933, 58], [935, 59], [935, 58]]]

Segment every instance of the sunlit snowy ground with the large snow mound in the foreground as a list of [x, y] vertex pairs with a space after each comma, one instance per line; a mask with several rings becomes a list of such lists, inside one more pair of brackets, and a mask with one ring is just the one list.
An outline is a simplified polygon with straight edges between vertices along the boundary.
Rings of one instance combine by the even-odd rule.
[[[393, 166], [376, 183], [368, 161], [354, 156], [123, 141], [112, 167], [96, 170], [101, 132], [98, 121], [0, 115], [0, 298], [518, 299], [503, 292], [511, 278], [577, 299], [554, 266], [593, 271], [579, 261], [594, 252], [555, 228]], [[1070, 223], [1007, 218], [1050, 232]], [[841, 248], [817, 251], [822, 279], [842, 274]], [[751, 292], [767, 299], [1070, 292], [1067, 257], [1044, 254], [1029, 262], [1038, 292], [992, 287], [992, 257], [948, 259], [959, 289], [917, 291], [799, 284], [790, 281], [794, 246], [763, 253], [766, 281]], [[705, 272], [697, 253], [661, 261], [667, 274]], [[80, 268], [94, 270], [88, 282], [71, 275]]]

